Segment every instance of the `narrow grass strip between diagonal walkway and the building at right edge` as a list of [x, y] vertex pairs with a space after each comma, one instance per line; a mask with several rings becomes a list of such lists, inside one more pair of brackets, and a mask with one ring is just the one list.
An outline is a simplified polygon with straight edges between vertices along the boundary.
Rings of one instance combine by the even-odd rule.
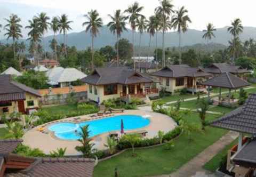
[[231, 149], [235, 144], [237, 144], [237, 140], [234, 140], [229, 145], [227, 145], [224, 149], [222, 149], [209, 162], [204, 164], [203, 168], [205, 170], [209, 170], [211, 172], [215, 172], [217, 170], [217, 168], [220, 166], [220, 162], [221, 162], [222, 157], [226, 156], [228, 150]]

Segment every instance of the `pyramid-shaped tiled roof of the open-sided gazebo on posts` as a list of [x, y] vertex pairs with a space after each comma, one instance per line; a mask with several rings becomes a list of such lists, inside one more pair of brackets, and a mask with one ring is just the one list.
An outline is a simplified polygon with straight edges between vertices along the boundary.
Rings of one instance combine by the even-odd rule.
[[249, 86], [250, 84], [243, 79], [234, 76], [233, 74], [223, 73], [220, 76], [213, 77], [208, 81], [201, 83], [201, 85], [222, 87], [228, 89], [238, 89], [241, 87]]

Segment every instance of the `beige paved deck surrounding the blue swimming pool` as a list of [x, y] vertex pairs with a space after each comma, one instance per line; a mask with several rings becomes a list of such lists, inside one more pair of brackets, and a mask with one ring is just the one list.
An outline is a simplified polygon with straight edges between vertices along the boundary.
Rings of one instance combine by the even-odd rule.
[[[149, 115], [150, 124], [146, 127], [139, 128], [133, 131], [138, 130], [146, 130], [148, 133], [146, 135], [146, 138], [153, 138], [157, 135], [157, 132], [159, 130], [168, 132], [170, 130], [173, 130], [175, 126], [177, 125], [172, 118], [169, 116], [159, 114], [152, 111], [146, 111], [146, 110], [125, 110], [123, 113], [113, 113], [111, 115], [139, 115], [139, 116], [145, 116]], [[94, 117], [90, 117], [91, 115], [85, 115], [85, 116], [78, 116], [79, 120], [78, 122], [84, 122], [85, 120], [92, 120], [95, 119]], [[67, 119], [61, 119], [61, 122], [74, 122], [75, 118], [77, 117], [71, 117]], [[23, 144], [31, 147], [31, 148], [39, 148], [43, 150], [45, 154], [50, 154], [50, 151], [57, 150], [57, 148], [67, 148], [66, 155], [79, 155], [79, 152], [75, 150], [75, 147], [77, 145], [80, 145], [78, 141], [68, 141], [68, 140], [59, 140], [56, 138], [53, 133], [49, 130], [47, 130], [47, 126], [53, 125], [57, 121], [54, 121], [52, 123], [47, 123], [38, 127], [44, 126], [45, 132], [42, 133], [38, 131], [38, 127], [33, 128], [32, 130], [25, 133], [23, 136]], [[60, 122], [60, 120], [58, 121]], [[127, 132], [133, 132], [133, 131], [125, 131]], [[112, 132], [111, 132], [112, 133]], [[116, 131], [120, 135], [120, 131]], [[106, 143], [108, 133], [100, 134], [98, 136], [94, 136], [92, 142], [95, 144], [93, 148], [103, 150], [106, 149], [104, 144]]]

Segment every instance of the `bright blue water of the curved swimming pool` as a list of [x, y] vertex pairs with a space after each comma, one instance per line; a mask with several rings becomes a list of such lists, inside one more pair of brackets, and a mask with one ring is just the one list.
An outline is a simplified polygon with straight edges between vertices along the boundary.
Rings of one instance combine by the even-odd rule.
[[[78, 140], [80, 138], [77, 132], [81, 131], [80, 127], [89, 125], [90, 137], [107, 133], [111, 131], [121, 131], [121, 120], [123, 119], [124, 131], [134, 130], [149, 125], [150, 120], [142, 116], [122, 115], [98, 120], [90, 120], [79, 124], [75, 123], [57, 123], [48, 129], [53, 131], [55, 136], [63, 140]], [[77, 131], [77, 132], [76, 132]]]

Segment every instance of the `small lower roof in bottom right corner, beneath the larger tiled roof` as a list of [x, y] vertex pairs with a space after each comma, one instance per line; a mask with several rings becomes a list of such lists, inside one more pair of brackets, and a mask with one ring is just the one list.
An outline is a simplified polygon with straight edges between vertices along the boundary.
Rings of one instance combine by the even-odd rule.
[[233, 162], [244, 167], [256, 167], [256, 139], [252, 140], [233, 157]]

